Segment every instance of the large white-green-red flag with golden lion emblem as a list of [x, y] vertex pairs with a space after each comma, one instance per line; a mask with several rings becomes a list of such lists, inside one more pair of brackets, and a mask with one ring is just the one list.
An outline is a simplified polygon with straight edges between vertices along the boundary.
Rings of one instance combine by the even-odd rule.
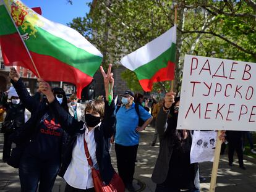
[[73, 83], [79, 98], [103, 57], [77, 31], [17, 0], [0, 0], [0, 43], [5, 65], [25, 67], [46, 81]]

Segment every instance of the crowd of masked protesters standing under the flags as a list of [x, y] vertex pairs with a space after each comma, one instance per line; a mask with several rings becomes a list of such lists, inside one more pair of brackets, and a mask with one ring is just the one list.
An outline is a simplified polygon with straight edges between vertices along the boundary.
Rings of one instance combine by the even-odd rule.
[[[109, 146], [114, 142], [119, 176], [128, 191], [135, 191], [132, 183], [140, 132], [151, 124], [155, 128], [151, 146], [155, 146], [157, 138], [160, 141], [152, 174], [155, 191], [199, 191], [198, 164], [190, 164], [192, 132], [176, 130], [179, 97], [170, 92], [156, 101], [154, 97], [145, 98], [143, 94], [126, 90], [118, 97], [121, 102], [117, 97], [109, 101], [109, 96], [113, 98], [109, 85], [112, 86], [110, 90], [114, 86], [111, 65], [107, 73], [101, 67], [101, 73], [106, 95], [85, 106], [78, 102], [76, 94], [72, 94], [68, 101], [62, 88], [52, 89], [42, 79], [38, 80], [38, 93], [44, 97], [30, 96], [19, 73], [11, 68], [12, 86], [7, 98], [1, 93], [2, 161], [12, 165], [12, 143], [22, 148], [17, 165], [21, 190], [51, 191], [59, 175], [66, 181], [65, 191], [95, 191], [85, 144], [93, 167], [99, 170], [102, 181], [108, 185], [115, 173], [109, 154]], [[25, 109], [31, 112], [28, 121]], [[227, 134], [223, 131], [220, 140], [226, 139], [229, 143], [229, 165], [233, 166], [236, 150], [239, 166], [245, 169], [242, 134], [241, 131], [228, 131]], [[251, 152], [255, 153], [252, 135], [245, 135], [250, 141]]]

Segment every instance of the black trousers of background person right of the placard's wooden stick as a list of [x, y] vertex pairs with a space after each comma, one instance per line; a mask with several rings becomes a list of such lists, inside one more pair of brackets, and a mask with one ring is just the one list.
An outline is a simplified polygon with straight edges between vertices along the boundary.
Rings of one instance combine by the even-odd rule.
[[228, 161], [232, 164], [234, 161], [234, 151], [236, 150], [239, 166], [244, 166], [244, 156], [242, 151], [242, 140], [228, 143]]

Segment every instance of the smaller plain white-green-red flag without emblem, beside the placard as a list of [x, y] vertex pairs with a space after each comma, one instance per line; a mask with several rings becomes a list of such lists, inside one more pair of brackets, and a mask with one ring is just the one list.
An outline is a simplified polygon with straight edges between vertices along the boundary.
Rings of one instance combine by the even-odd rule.
[[137, 75], [144, 91], [153, 83], [174, 79], [176, 58], [176, 25], [142, 48], [121, 59], [121, 64]]

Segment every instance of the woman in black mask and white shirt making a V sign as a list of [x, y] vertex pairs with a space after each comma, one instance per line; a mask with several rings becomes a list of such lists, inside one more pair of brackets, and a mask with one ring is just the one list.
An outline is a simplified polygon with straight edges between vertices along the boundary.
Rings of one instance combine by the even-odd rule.
[[[101, 67], [101, 73], [104, 77], [106, 101], [93, 100], [90, 101], [85, 108], [85, 123], [75, 120], [74, 117], [64, 111], [51, 93], [49, 84], [40, 81], [40, 91], [46, 95], [49, 107], [54, 114], [60, 119], [60, 124], [64, 130], [71, 136], [67, 151], [61, 166], [59, 175], [66, 182], [65, 191], [94, 191], [92, 171], [88, 165], [87, 157], [83, 142], [87, 143], [88, 151], [93, 161], [93, 167], [100, 170], [100, 175], [106, 184], [113, 177], [114, 169], [111, 165], [109, 155], [109, 138], [114, 133], [116, 119], [114, 117], [114, 102], [109, 105], [109, 94], [113, 97], [113, 93], [109, 93], [113, 89], [114, 79], [111, 73], [111, 65], [109, 65], [106, 74]], [[112, 92], [112, 91], [111, 91]]]

